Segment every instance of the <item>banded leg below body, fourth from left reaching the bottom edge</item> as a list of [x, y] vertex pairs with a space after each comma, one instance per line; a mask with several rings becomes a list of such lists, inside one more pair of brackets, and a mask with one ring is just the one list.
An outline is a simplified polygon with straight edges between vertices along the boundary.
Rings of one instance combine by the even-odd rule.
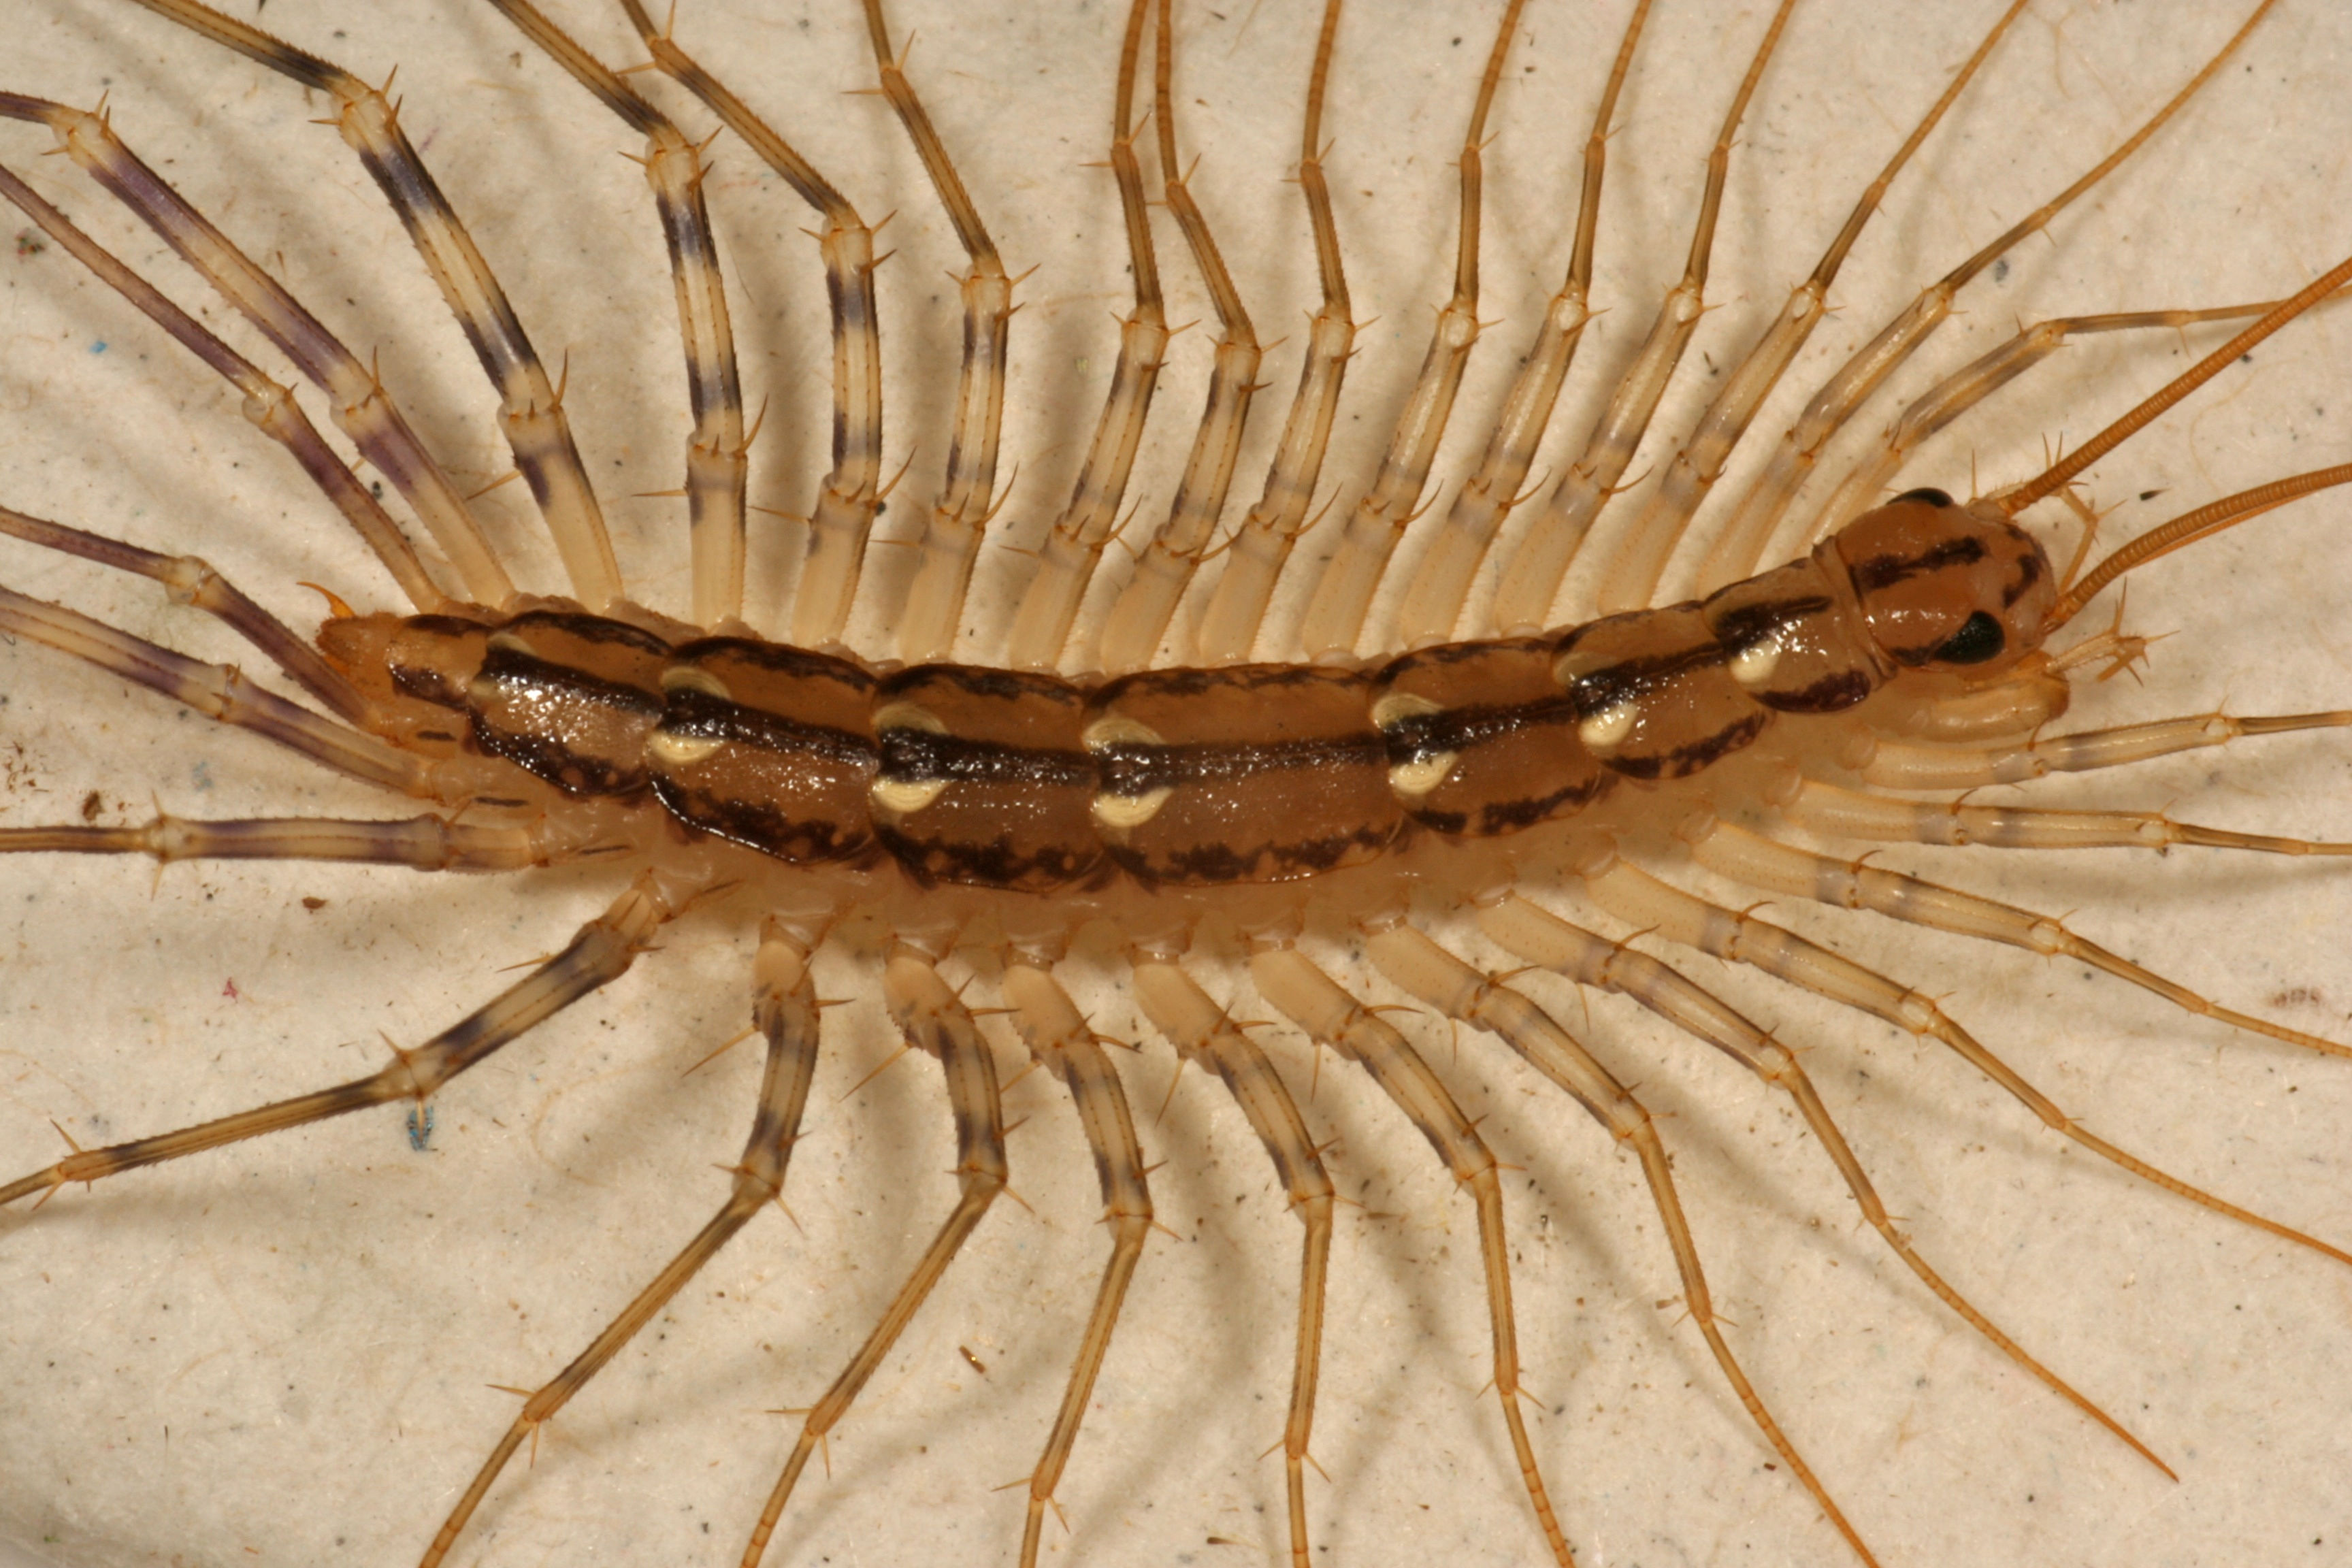
[[1291, 1359], [1291, 1406], [1282, 1422], [1282, 1481], [1291, 1514], [1291, 1568], [1308, 1568], [1308, 1439], [1315, 1434], [1315, 1378], [1322, 1366], [1324, 1279], [1331, 1267], [1331, 1178], [1298, 1119], [1298, 1103], [1258, 1044], [1232, 1025], [1176, 964], [1176, 952], [1131, 957], [1136, 1006], [1176, 1046], [1176, 1056], [1216, 1072], [1249, 1128], [1275, 1161], [1275, 1178], [1305, 1227], [1298, 1253], [1298, 1345]]

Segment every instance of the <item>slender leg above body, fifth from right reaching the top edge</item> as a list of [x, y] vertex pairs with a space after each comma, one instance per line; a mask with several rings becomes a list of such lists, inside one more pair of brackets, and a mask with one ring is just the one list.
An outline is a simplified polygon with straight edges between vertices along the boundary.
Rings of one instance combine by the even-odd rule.
[[1315, 592], [1308, 597], [1305, 618], [1298, 625], [1298, 649], [1312, 661], [1355, 656], [1371, 595], [1381, 585], [1388, 557], [1397, 552], [1397, 541], [1404, 538], [1404, 529], [1421, 510], [1421, 491], [1430, 482], [1437, 442], [1444, 440], [1454, 395], [1470, 367], [1470, 348], [1477, 343], [1477, 242], [1486, 110], [1494, 106], [1496, 82], [1503, 80], [1503, 61], [1510, 56], [1510, 40], [1519, 31], [1524, 5], [1526, 0], [1510, 0], [1503, 7], [1503, 26], [1496, 28], [1494, 47], [1486, 52], [1486, 75], [1479, 78], [1477, 103], [1470, 108], [1470, 129], [1463, 132], [1454, 296], [1430, 327], [1421, 376], [1414, 378], [1414, 390], [1406, 395], [1404, 409], [1397, 411], [1397, 428], [1388, 437], [1388, 451], [1381, 454], [1381, 470], [1348, 515], [1338, 545], [1324, 562], [1322, 576], [1315, 578]]

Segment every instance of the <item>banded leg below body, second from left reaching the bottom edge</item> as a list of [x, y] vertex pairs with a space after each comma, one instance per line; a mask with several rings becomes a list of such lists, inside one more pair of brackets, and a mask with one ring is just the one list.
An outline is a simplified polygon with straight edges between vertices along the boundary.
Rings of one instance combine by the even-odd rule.
[[978, 1027], [971, 1023], [971, 1013], [955, 999], [948, 983], [938, 978], [934, 961], [906, 945], [891, 952], [882, 971], [882, 994], [908, 1044], [938, 1058], [938, 1070], [948, 1079], [948, 1110], [955, 1117], [957, 1150], [955, 1180], [962, 1192], [955, 1199], [955, 1208], [941, 1220], [931, 1246], [915, 1262], [915, 1272], [908, 1274], [882, 1312], [882, 1321], [866, 1335], [866, 1345], [858, 1347], [858, 1354], [849, 1359], [842, 1375], [833, 1380], [826, 1396], [802, 1420], [793, 1458], [783, 1462], [783, 1474], [776, 1476], [776, 1488], [767, 1495], [760, 1523], [753, 1526], [750, 1542], [743, 1547], [743, 1568], [760, 1568], [767, 1542], [776, 1533], [776, 1521], [783, 1519], [783, 1505], [793, 1500], [793, 1486], [800, 1481], [800, 1472], [807, 1469], [809, 1455], [816, 1453], [826, 1434], [849, 1413], [849, 1403], [858, 1396], [858, 1389], [875, 1375], [889, 1347], [898, 1342], [915, 1312], [922, 1309], [922, 1300], [938, 1284], [938, 1276], [948, 1272], [948, 1265], [955, 1262], [955, 1253], [978, 1227], [988, 1206], [1004, 1192], [1009, 1175], [1004, 1166], [1004, 1110], [997, 1103], [997, 1065], [988, 1053], [988, 1041], [981, 1039]]

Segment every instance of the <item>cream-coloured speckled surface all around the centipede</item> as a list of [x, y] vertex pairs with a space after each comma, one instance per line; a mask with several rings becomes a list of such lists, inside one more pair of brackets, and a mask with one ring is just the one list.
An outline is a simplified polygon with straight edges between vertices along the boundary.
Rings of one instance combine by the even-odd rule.
[[[470, 355], [325, 103], [101, 0], [7, 7], [5, 87], [73, 103], [111, 94], [118, 129], [273, 266], [449, 454], [489, 482], [489, 400]], [[1035, 538], [1058, 508], [1122, 308], [1103, 155], [1115, 7], [913, 5], [915, 80], [1014, 268], [1035, 266], [1014, 336], [1002, 515]], [[1296, 378], [1312, 308], [1305, 221], [1284, 183], [1312, 7], [1185, 7], [1181, 134], [1265, 339], [1258, 430]], [[1324, 489], [1352, 498], [1421, 355], [1451, 256], [1449, 160], [1491, 7], [1359, 2], [1334, 82], [1331, 176], [1362, 336]], [[1799, 9], [1733, 162], [1715, 299], [1684, 381], [1726, 367], [1846, 202], [1971, 47], [1992, 5]], [[1792, 381], [1875, 329], [1929, 275], [1997, 233], [2166, 96], [2225, 33], [2216, 7], [2037, 5], [1978, 92], [1929, 143], [1837, 289], [1842, 315]], [[1498, 381], [1566, 254], [1573, 158], [1621, 7], [1529, 9], [1496, 115], [1484, 313], [1439, 475], [1451, 496]], [[607, 59], [635, 59], [619, 14], [567, 5]], [[572, 407], [623, 562], [682, 609], [670, 489], [684, 397], [668, 282], [628, 134], [487, 7], [275, 0], [263, 21], [367, 75], [400, 66], [407, 125], [475, 226], [541, 350], [569, 355]], [[1693, 174], [1762, 7], [1665, 0], [1637, 63], [1602, 228], [1599, 301], [1555, 421], [1578, 437], [1679, 270]], [[877, 99], [849, 5], [682, 5], [682, 38], [833, 172], [884, 242], [891, 465], [913, 458], [884, 527], [936, 484], [953, 386], [957, 259]], [[2197, 306], [2291, 292], [2352, 247], [2343, 82], [2347, 19], [2286, 0], [2140, 160], [2025, 242], [1966, 299], [1929, 360], [1952, 367], [2037, 315]], [[703, 125], [691, 115], [689, 125]], [[181, 299], [202, 296], [24, 127], [0, 146]], [[769, 418], [753, 498], [804, 508], [823, 468], [823, 294], [807, 214], [729, 141], [713, 207], [750, 395]], [[14, 233], [16, 223], [9, 226]], [[1204, 317], [1162, 226], [1176, 320]], [[139, 543], [202, 550], [287, 618], [301, 581], [386, 604], [381, 574], [306, 494], [235, 402], [59, 252], [0, 259], [0, 498]], [[209, 310], [212, 317], [219, 310]], [[2117, 534], [2258, 480], [2343, 461], [2352, 322], [2321, 313], [2091, 475]], [[233, 334], [245, 341], [249, 334]], [[1138, 496], [1162, 505], [1197, 409], [1209, 327], [1178, 339]], [[2220, 341], [2204, 331], [2192, 348]], [[103, 343], [103, 350], [99, 348]], [[1966, 491], [2030, 473], [2185, 364], [2143, 336], [2077, 348], [2006, 393], [1907, 477]], [[1922, 378], [1915, 376], [1912, 386]], [[1795, 388], [1799, 395], [1806, 388]], [[1691, 400], [1682, 397], [1689, 418]], [[1773, 418], [1792, 407], [1783, 397]], [[1877, 411], [1875, 411], [1877, 414]], [[1668, 425], [1672, 421], [1663, 421]], [[1879, 418], [1863, 421], [1877, 428]], [[1670, 456], [1672, 430], [1637, 461]], [[2140, 491], [2164, 491], [2136, 501]], [[2343, 705], [2352, 691], [2343, 498], [2307, 503], [2136, 578], [2131, 623], [2178, 632], [2145, 684], [2091, 715]], [[527, 538], [520, 487], [485, 501]], [[548, 550], [520, 550], [550, 583]], [[1002, 562], [1000, 562], [1002, 567]], [[5, 581], [209, 658], [230, 642], [122, 585], [9, 545]], [[995, 581], [981, 628], [1000, 604]], [[774, 623], [774, 614], [769, 614]], [[9, 820], [397, 813], [33, 646], [0, 646], [0, 783]], [[2345, 743], [2288, 738], [2100, 780], [2079, 797], [2201, 820], [2352, 837]], [[1905, 860], [1896, 856], [1893, 860]], [[2312, 863], [2096, 856], [1945, 875], [2072, 910], [2114, 947], [2232, 1001], [2347, 1034], [2343, 872]], [[609, 898], [595, 877], [508, 884], [336, 867], [19, 860], [0, 870], [0, 1171], [367, 1072], [379, 1032], [419, 1039], [557, 947]], [[306, 898], [325, 905], [306, 910]], [[1733, 903], [1740, 903], [1731, 896]], [[0, 1540], [56, 1563], [405, 1563], [513, 1410], [487, 1385], [536, 1385], [701, 1222], [715, 1161], [743, 1135], [755, 1060], [682, 1072], [743, 1018], [750, 898], [666, 933], [623, 983], [510, 1046], [440, 1100], [430, 1154], [393, 1112], [270, 1138], [59, 1194], [0, 1218]], [[1778, 910], [1931, 992], [2100, 1131], [2230, 1197], [2352, 1239], [2352, 1063], [2310, 1060], [2180, 1018], [2114, 983], [2023, 954]], [[1691, 973], [1809, 1056], [1832, 1107], [1924, 1251], [2180, 1469], [2131, 1460], [1943, 1314], [1877, 1246], [1811, 1138], [1752, 1081], [1635, 1009], [1531, 980], [1670, 1117], [1677, 1171], [1736, 1347], [1886, 1563], [2352, 1563], [2352, 1272], [2147, 1194], [2044, 1135], [1964, 1070], [1893, 1032], [1828, 1016], [1708, 961]], [[555, 1425], [532, 1474], [494, 1493], [459, 1563], [722, 1563], [807, 1403], [946, 1208], [936, 1077], [891, 1048], [868, 971], [828, 971], [828, 1058], [790, 1201], [760, 1220]], [[1204, 966], [1223, 994], [1235, 980]], [[228, 997], [228, 985], [235, 997]], [[1089, 992], [1127, 1030], [1115, 994]], [[1244, 997], [1247, 1011], [1247, 997]], [[1446, 1030], [1409, 1032], [1451, 1063]], [[1009, 1032], [1007, 1070], [1014, 1060]], [[1308, 1053], [1275, 1046], [1305, 1088]], [[1581, 1114], [1536, 1093], [1486, 1039], [1456, 1081], [1512, 1175], [1515, 1267], [1536, 1441], [1583, 1563], [1846, 1561], [1837, 1537], [1722, 1389], [1635, 1168]], [[1171, 1058], [1127, 1079], [1143, 1112]], [[811, 1474], [771, 1563], [1009, 1561], [1023, 1476], [1094, 1291], [1091, 1173], [1061, 1091], [1009, 1095], [1028, 1208], [990, 1215]], [[1329, 1373], [1312, 1483], [1317, 1544], [1343, 1563], [1524, 1563], [1541, 1552], [1486, 1375], [1475, 1229], [1425, 1145], [1327, 1065], [1310, 1119], [1343, 1140]], [[1296, 1272], [1261, 1150], [1230, 1103], [1185, 1079], [1145, 1131], [1160, 1237], [1063, 1486], [1056, 1561], [1258, 1563], [1282, 1540], [1279, 1434]], [[985, 1363], [978, 1373], [960, 1347]]]

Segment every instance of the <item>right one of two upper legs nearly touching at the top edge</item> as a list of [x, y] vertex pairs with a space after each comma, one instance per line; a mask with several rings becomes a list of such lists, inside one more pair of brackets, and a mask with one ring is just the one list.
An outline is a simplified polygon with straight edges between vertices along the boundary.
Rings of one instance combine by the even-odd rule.
[[1152, 54], [1152, 118], [1160, 132], [1160, 181], [1176, 226], [1183, 228], [1192, 249], [1192, 266], [1200, 268], [1209, 299], [1216, 303], [1216, 320], [1223, 329], [1216, 341], [1216, 362], [1209, 371], [1209, 402], [1200, 414], [1200, 430], [1192, 435], [1192, 454], [1185, 458], [1183, 477], [1176, 482], [1176, 498], [1169, 503], [1167, 522], [1152, 531], [1136, 571], [1120, 588], [1117, 602], [1103, 618], [1096, 639], [1096, 656], [1087, 661], [1094, 670], [1141, 670], [1160, 649], [1176, 602], [1192, 583], [1192, 574], [1209, 555], [1216, 538], [1216, 520], [1225, 512], [1225, 491], [1232, 489], [1232, 465], [1242, 451], [1242, 430], [1249, 425], [1249, 400], [1258, 393], [1258, 364], [1265, 353], [1258, 334], [1242, 308], [1242, 292], [1232, 287], [1225, 256], [1216, 249], [1209, 219], [1185, 183], [1183, 165], [1176, 160], [1176, 94], [1174, 54], [1176, 40], [1169, 26], [1174, 0], [1160, 0], [1160, 47]]

